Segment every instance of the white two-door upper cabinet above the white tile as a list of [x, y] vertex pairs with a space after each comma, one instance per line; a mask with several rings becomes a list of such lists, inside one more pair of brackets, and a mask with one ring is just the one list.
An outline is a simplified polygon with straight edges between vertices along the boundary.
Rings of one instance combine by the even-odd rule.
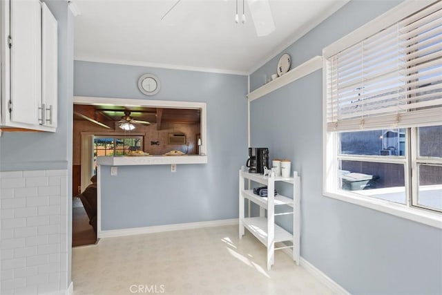
[[55, 131], [57, 58], [57, 21], [46, 4], [1, 1], [2, 127]]

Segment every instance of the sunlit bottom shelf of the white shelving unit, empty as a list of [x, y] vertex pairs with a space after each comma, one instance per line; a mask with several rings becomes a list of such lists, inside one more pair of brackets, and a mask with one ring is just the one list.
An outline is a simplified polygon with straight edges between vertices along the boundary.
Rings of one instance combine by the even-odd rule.
[[[244, 218], [244, 227], [256, 236], [262, 244], [267, 245], [267, 218], [265, 217], [251, 217]], [[288, 231], [275, 225], [275, 240], [273, 242], [293, 241], [293, 235]]]

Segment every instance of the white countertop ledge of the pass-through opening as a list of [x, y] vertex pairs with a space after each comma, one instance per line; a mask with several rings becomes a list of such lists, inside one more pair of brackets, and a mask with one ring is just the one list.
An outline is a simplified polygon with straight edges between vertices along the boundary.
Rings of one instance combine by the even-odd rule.
[[207, 164], [206, 155], [146, 155], [122, 157], [97, 157], [97, 164], [105, 166]]

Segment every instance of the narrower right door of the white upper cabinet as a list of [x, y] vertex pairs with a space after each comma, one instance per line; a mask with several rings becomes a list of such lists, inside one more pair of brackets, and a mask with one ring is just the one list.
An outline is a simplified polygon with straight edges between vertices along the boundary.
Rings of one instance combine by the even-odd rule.
[[42, 124], [57, 127], [57, 20], [45, 3], [41, 6], [41, 102], [45, 112]]

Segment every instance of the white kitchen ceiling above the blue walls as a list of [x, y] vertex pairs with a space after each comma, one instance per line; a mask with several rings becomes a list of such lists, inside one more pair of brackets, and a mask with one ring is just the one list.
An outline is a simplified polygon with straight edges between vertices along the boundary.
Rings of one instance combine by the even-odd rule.
[[74, 1], [75, 59], [247, 75], [349, 0], [269, 0], [276, 29], [264, 37], [251, 0], [245, 24], [235, 0]]

